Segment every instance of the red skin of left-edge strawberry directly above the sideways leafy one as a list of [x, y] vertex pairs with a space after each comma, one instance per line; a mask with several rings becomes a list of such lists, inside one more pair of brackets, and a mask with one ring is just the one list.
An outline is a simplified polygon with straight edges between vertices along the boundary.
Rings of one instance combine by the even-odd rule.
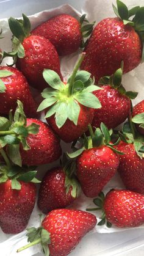
[[17, 100], [20, 100], [24, 106], [24, 112], [27, 117], [37, 116], [37, 104], [32, 98], [29, 84], [23, 74], [13, 67], [0, 67], [0, 70], [7, 70], [13, 73], [11, 76], [1, 78], [5, 84], [6, 90], [0, 93], [0, 114], [8, 115], [10, 109], [15, 111]]

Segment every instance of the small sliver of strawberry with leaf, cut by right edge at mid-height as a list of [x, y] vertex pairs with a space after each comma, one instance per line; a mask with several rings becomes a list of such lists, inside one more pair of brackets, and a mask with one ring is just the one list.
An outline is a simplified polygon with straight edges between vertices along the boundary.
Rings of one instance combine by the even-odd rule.
[[137, 131], [144, 135], [144, 100], [134, 106], [132, 109], [132, 117], [132, 122], [137, 123]]

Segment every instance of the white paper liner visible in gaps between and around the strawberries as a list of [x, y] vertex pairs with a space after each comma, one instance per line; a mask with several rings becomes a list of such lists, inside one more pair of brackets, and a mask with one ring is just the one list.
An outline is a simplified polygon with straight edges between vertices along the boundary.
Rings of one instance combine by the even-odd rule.
[[[129, 7], [134, 7], [137, 5], [136, 0], [125, 0], [124, 1]], [[144, 1], [140, 1], [140, 5], [144, 5]], [[57, 7], [56, 9], [51, 10], [45, 10], [43, 12], [36, 13], [35, 15], [29, 16], [29, 19], [31, 20], [32, 29], [34, 27], [38, 26], [38, 24], [48, 20], [52, 16], [58, 15], [60, 13], [67, 13], [69, 15], [74, 16], [75, 18], [78, 18], [81, 16], [81, 13], [77, 10], [73, 9], [68, 4], [62, 5], [60, 7]], [[102, 20], [103, 18], [115, 16], [112, 10], [112, 0], [86, 0], [85, 5], [82, 9], [82, 13], [87, 13], [87, 18], [90, 21], [96, 20], [96, 23], [98, 21]], [[0, 20], [0, 28], [2, 27], [2, 35], [4, 35], [4, 39], [1, 40], [0, 48], [5, 51], [10, 51], [11, 49], [11, 43], [10, 39], [12, 37], [11, 32], [9, 31], [8, 21], [7, 19], [1, 19]], [[61, 71], [64, 79], [67, 79], [68, 75], [70, 75], [71, 71], [73, 70], [74, 64], [76, 63], [76, 60], [79, 56], [80, 52], [71, 54], [70, 56], [65, 56], [61, 59]], [[5, 59], [4, 63], [8, 63], [7, 59]], [[3, 63], [3, 64], [4, 64]], [[123, 76], [123, 85], [126, 88], [126, 90], [135, 90], [139, 92], [139, 96], [133, 101], [134, 104], [138, 103], [140, 100], [143, 100], [144, 95], [144, 73], [143, 73], [143, 67], [144, 65], [139, 65], [139, 67], [135, 68], [135, 70], [132, 70], [128, 74]], [[37, 94], [37, 93], [36, 93]], [[65, 144], [62, 142], [63, 150], [67, 151], [70, 148], [70, 145]], [[65, 149], [64, 149], [65, 148]], [[45, 166], [39, 167], [40, 172], [38, 173], [39, 177], [43, 177], [46, 170], [51, 169], [51, 167], [59, 166], [59, 161], [48, 164]], [[115, 175], [115, 177], [112, 178], [112, 180], [109, 181], [107, 186], [104, 188], [104, 193], [108, 192], [112, 188], [124, 188], [123, 184], [120, 180], [120, 177]], [[69, 208], [76, 208], [79, 210], [85, 210], [86, 208], [93, 208], [95, 205], [93, 205], [92, 199], [87, 198], [82, 194], [79, 199], [77, 199], [73, 205], [71, 205]], [[34, 211], [32, 213], [31, 219], [29, 220], [28, 227], [38, 227], [39, 224], [39, 216], [38, 213], [40, 211], [37, 208], [37, 204], [35, 205]], [[95, 214], [95, 212], [93, 212]], [[96, 212], [96, 217], [99, 217], [99, 213]], [[98, 218], [99, 221], [99, 218]], [[141, 225], [140, 227], [137, 227], [135, 229], [143, 229], [144, 225]], [[121, 232], [126, 229], [118, 229], [117, 227], [112, 227], [108, 229], [106, 225], [98, 226], [96, 225], [95, 229], [92, 230], [91, 233], [113, 233], [113, 232]], [[0, 232], [0, 248], [2, 251], [2, 256], [15, 256], [16, 255], [16, 249], [23, 246], [24, 244], [27, 244], [27, 238], [26, 238], [26, 231], [21, 232], [18, 235], [5, 235], [3, 232]], [[20, 256], [31, 256], [36, 254], [37, 252], [40, 252], [40, 246], [34, 246], [30, 247], [26, 251], [20, 252]]]

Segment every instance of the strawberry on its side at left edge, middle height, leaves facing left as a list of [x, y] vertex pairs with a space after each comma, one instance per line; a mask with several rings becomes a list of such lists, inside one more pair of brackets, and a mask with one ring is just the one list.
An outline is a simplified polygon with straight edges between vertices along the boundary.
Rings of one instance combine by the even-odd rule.
[[37, 166], [51, 163], [62, 153], [60, 140], [46, 123], [26, 119], [23, 104], [18, 101], [14, 117], [0, 119], [0, 144], [7, 148], [12, 163]]

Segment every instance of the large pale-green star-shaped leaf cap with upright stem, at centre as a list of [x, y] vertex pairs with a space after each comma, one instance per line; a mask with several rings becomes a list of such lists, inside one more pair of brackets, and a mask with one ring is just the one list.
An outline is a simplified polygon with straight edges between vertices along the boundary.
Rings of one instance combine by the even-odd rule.
[[67, 119], [77, 125], [81, 104], [88, 108], [101, 108], [98, 98], [93, 95], [93, 91], [100, 90], [94, 85], [91, 74], [87, 71], [78, 71], [85, 53], [82, 53], [80, 59], [74, 67], [72, 75], [68, 78], [67, 84], [64, 84], [59, 75], [53, 70], [44, 70], [43, 78], [51, 88], [46, 88], [41, 93], [45, 98], [38, 107], [37, 111], [48, 109], [45, 118], [55, 115], [56, 125], [61, 128]]

